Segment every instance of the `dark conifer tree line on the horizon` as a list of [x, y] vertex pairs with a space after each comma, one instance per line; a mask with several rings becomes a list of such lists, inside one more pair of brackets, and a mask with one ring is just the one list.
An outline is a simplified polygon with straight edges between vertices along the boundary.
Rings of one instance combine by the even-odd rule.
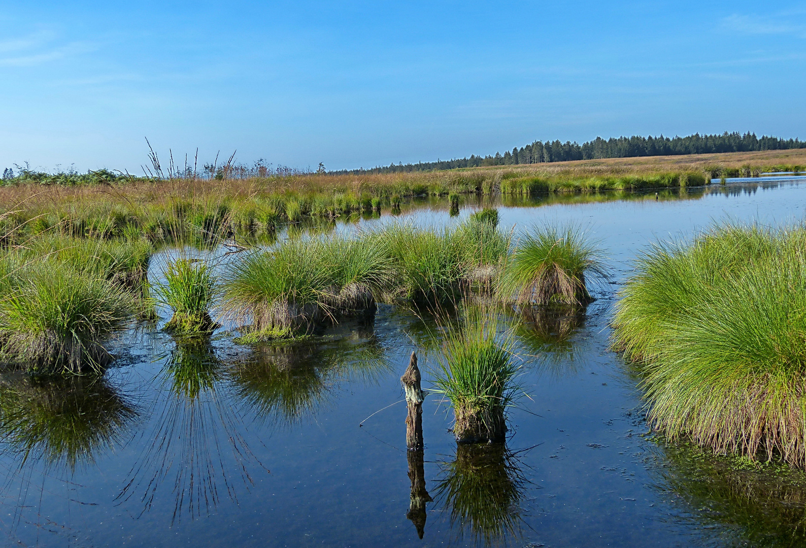
[[571, 160], [596, 160], [602, 158], [634, 158], [638, 156], [680, 156], [684, 154], [713, 154], [717, 152], [755, 152], [806, 148], [806, 141], [800, 139], [780, 139], [738, 131], [721, 135], [688, 135], [686, 137], [658, 137], [633, 135], [632, 137], [596, 137], [592, 141], [576, 143], [559, 139], [555, 141], [534, 141], [512, 152], [496, 152], [495, 156], [476, 156], [417, 164], [389, 164], [375, 168], [342, 169], [330, 171], [334, 175], [357, 175], [361, 173], [397, 173], [418, 171], [439, 171], [442, 169], [478, 168], [496, 165], [542, 164], [546, 162], [567, 162]]

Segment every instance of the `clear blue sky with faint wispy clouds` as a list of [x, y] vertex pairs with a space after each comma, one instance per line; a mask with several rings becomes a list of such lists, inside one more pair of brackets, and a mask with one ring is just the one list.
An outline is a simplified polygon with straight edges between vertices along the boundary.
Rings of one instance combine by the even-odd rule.
[[806, 138], [806, 2], [0, 2], [0, 168]]

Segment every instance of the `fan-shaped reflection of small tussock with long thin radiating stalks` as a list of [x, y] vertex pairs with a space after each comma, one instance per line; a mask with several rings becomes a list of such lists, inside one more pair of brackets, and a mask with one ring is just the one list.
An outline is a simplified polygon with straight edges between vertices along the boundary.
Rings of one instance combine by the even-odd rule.
[[146, 512], [167, 483], [174, 496], [173, 522], [185, 511], [190, 517], [210, 513], [225, 493], [237, 500], [231, 476], [240, 475], [248, 486], [247, 465], [262, 465], [243, 438], [240, 417], [223, 396], [224, 366], [206, 339], [178, 344], [161, 380], [167, 390], [157, 402], [153, 442], [143, 448], [116, 500], [139, 499]]

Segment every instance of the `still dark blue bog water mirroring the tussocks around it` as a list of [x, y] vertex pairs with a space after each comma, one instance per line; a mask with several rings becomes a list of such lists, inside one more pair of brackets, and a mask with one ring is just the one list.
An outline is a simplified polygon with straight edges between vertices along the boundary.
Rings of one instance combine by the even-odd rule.
[[[459, 218], [472, 210], [464, 205]], [[648, 433], [636, 380], [608, 350], [608, 321], [648, 243], [724, 218], [794, 222], [804, 208], [806, 185], [791, 181], [657, 201], [654, 192], [505, 201], [502, 226], [575, 222], [613, 267], [613, 284], [584, 313], [517, 331], [530, 399], [511, 413], [505, 447], [457, 449], [432, 394], [423, 462], [406, 454], [399, 377], [416, 350], [427, 388], [433, 326], [390, 306], [294, 347], [256, 351], [223, 331], [177, 344], [141, 328], [115, 344], [120, 359], [102, 380], [3, 373], [0, 544], [800, 546], [804, 476]], [[427, 201], [401, 217], [455, 222]], [[414, 494], [425, 507], [409, 511], [419, 466], [427, 495]]]

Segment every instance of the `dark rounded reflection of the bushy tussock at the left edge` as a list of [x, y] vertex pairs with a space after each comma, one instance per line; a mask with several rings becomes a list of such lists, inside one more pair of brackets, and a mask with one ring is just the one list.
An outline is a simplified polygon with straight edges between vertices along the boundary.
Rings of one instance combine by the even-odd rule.
[[100, 376], [0, 376], [0, 441], [4, 452], [74, 471], [121, 441], [138, 406]]

